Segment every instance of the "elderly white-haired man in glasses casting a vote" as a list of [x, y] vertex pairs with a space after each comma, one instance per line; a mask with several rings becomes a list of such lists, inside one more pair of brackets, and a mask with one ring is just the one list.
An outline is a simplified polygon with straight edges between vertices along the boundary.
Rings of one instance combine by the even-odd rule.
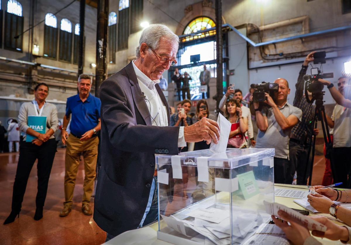
[[141, 33], [137, 59], [101, 84], [94, 220], [107, 232], [106, 240], [143, 226], [157, 198], [155, 154], [177, 155], [186, 142], [218, 143], [218, 124], [208, 118], [188, 127], [168, 126], [170, 111], [158, 83], [177, 63], [178, 46], [169, 28], [150, 25]]

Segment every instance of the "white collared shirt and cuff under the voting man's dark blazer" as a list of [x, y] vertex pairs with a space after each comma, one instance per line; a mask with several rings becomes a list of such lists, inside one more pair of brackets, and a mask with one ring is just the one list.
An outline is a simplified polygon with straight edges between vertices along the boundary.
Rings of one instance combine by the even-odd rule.
[[[168, 126], [168, 118], [167, 118], [167, 108], [161, 100], [160, 95], [158, 94], [155, 84], [159, 83], [160, 80], [151, 80], [148, 78], [143, 72], [141, 72], [137, 66], [134, 64], [135, 60], [133, 60], [133, 68], [134, 72], [137, 75], [138, 84], [141, 92], [144, 93], [146, 106], [149, 110], [151, 118], [151, 123], [153, 126]], [[185, 147], [186, 142], [184, 139], [184, 127], [179, 128], [178, 135], [178, 147]]]

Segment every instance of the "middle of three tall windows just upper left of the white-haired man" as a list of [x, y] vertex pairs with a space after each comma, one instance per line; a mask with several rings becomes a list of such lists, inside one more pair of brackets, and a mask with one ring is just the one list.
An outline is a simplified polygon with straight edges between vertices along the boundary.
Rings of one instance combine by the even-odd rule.
[[118, 50], [128, 48], [129, 0], [119, 0], [118, 12]]

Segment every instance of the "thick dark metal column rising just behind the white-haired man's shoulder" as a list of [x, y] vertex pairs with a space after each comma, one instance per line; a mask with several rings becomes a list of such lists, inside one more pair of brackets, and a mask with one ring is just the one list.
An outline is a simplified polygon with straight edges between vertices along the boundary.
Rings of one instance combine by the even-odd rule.
[[99, 88], [106, 79], [107, 73], [107, 21], [108, 1], [98, 0], [98, 26], [96, 33], [96, 70], [95, 70], [95, 96], [99, 97]]

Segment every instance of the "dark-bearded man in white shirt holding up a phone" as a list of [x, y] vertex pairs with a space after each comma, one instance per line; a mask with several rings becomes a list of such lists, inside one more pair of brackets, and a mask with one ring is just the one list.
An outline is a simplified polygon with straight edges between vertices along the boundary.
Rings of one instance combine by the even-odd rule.
[[253, 137], [253, 127], [252, 127], [252, 119], [251, 119], [250, 109], [243, 106], [243, 104], [241, 103], [243, 101], [243, 92], [241, 92], [240, 89], [234, 90], [234, 87], [229, 87], [227, 89], [227, 92], [225, 93], [225, 95], [222, 97], [222, 99], [219, 102], [219, 109], [221, 111], [223, 111], [224, 113], [226, 112], [225, 104], [226, 104], [230, 95], [233, 95], [234, 100], [236, 100], [241, 105], [241, 110], [243, 111], [243, 117], [247, 118], [247, 125], [249, 127], [247, 129], [247, 132], [245, 133], [245, 137], [247, 138], [247, 136], [249, 136], [250, 145], [255, 147], [256, 141]]

